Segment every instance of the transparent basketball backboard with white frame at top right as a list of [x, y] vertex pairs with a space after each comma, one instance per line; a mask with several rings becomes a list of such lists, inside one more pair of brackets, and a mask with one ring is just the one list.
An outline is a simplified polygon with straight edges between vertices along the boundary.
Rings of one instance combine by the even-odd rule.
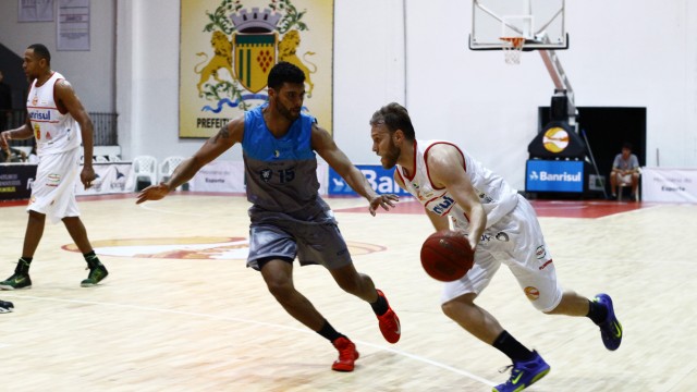
[[565, 0], [473, 0], [469, 49], [501, 50], [501, 38], [525, 38], [523, 50], [566, 49]]

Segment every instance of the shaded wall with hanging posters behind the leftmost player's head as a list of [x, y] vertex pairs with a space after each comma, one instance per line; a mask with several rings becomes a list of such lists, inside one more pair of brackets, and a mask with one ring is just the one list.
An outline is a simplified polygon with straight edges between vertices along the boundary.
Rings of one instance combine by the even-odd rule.
[[[58, 51], [53, 22], [17, 23], [16, 0], [0, 1], [0, 42], [23, 57], [32, 44], [44, 44], [51, 52], [51, 68], [73, 85], [90, 112], [113, 112], [115, 64], [115, 0], [90, 1], [89, 51]], [[57, 2], [58, 3], [58, 2]]]

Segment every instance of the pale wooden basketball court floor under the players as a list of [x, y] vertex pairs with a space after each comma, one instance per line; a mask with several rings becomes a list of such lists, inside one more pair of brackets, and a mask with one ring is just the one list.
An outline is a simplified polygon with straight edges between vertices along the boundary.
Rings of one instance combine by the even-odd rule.
[[[431, 228], [413, 201], [370, 217], [363, 199], [328, 199], [357, 269], [402, 320], [398, 344], [383, 341], [370, 307], [321, 267], [295, 268], [296, 286], [357, 344], [351, 373], [331, 371], [334, 348], [285, 314], [258, 272], [245, 268], [243, 197], [134, 201], [81, 200], [110, 271], [97, 287], [80, 287], [82, 256], [62, 225], [47, 225], [34, 286], [0, 292], [16, 307], [0, 315], [0, 390], [490, 391], [508, 378], [499, 372], [506, 357], [440, 311], [440, 283], [418, 260]], [[611, 353], [588, 319], [538, 313], [502, 267], [478, 302], [551, 365], [529, 391], [694, 390], [697, 206], [535, 205], [562, 284], [612, 295], [625, 338]], [[20, 256], [26, 213], [0, 204], [0, 217], [4, 279]]]

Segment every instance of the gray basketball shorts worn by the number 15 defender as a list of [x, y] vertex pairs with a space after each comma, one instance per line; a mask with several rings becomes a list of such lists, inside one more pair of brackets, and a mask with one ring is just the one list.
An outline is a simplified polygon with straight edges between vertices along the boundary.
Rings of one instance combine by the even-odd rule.
[[348, 247], [333, 222], [280, 219], [249, 226], [247, 267], [259, 270], [257, 260], [269, 257], [297, 259], [301, 266], [322, 265], [333, 270], [352, 264]]

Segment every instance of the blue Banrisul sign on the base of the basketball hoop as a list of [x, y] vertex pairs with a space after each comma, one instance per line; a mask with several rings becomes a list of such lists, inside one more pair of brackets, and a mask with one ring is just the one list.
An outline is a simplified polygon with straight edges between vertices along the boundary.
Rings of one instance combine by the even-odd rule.
[[584, 192], [584, 162], [528, 160], [525, 191]]

